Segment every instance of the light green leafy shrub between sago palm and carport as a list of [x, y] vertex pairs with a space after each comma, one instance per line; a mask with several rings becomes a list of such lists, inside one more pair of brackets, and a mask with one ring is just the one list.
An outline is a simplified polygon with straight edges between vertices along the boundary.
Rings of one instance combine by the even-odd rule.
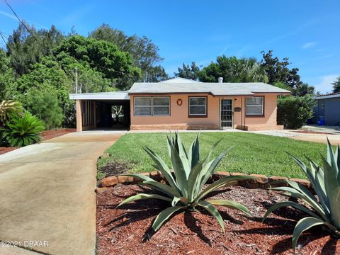
[[25, 106], [30, 113], [45, 123], [47, 130], [60, 128], [64, 115], [53, 90], [31, 89], [26, 96]]

